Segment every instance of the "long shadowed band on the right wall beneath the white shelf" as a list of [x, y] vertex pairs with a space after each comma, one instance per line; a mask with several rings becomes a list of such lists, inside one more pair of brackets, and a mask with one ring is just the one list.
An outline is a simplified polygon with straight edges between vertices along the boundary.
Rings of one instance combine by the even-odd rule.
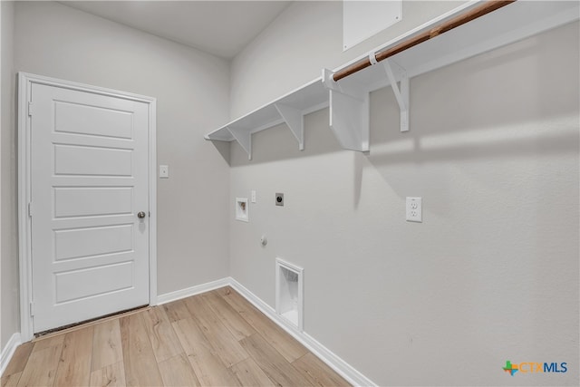
[[[570, 131], [578, 125], [578, 82], [565, 75], [556, 79], [558, 73], [577, 73], [578, 49], [575, 42], [552, 42], [539, 35], [413, 78], [406, 133], [399, 131], [391, 88], [372, 92], [371, 151], [355, 152], [355, 180], [362, 179], [364, 159], [380, 167], [578, 152], [577, 132]], [[575, 61], [554, 59], [566, 53], [576, 53]], [[229, 153], [227, 144], [216, 147], [232, 167], [350, 152], [333, 137], [328, 109], [304, 117], [304, 151], [285, 124], [252, 140], [253, 160], [236, 142]]]

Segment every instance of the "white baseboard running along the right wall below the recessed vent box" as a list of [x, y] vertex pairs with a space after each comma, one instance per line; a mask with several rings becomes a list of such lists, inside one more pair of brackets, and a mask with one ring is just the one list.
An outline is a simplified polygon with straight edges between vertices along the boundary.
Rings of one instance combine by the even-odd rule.
[[335, 372], [340, 374], [348, 382], [355, 386], [376, 386], [377, 384], [372, 382], [369, 378], [364, 376], [361, 372], [358, 372], [352, 365], [346, 363], [338, 357], [331, 350], [326, 348], [323, 344], [317, 342], [314, 337], [306, 334], [304, 332], [298, 331], [295, 327], [286, 324], [285, 319], [283, 319], [279, 314], [275, 313], [275, 309], [267, 305], [259, 297], [250, 292], [244, 285], [241, 285], [234, 278], [229, 277], [229, 284], [232, 286], [240, 295], [243, 295], [248, 302], [256, 306], [263, 314], [278, 324], [282, 329], [284, 329], [288, 334], [292, 335], [299, 343], [302, 343], [308, 350], [314, 353], [320, 360], [326, 363]]

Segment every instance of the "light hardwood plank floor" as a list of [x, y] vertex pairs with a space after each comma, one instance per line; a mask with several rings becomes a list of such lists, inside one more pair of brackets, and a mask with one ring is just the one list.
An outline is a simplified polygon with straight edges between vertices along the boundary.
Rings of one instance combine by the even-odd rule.
[[230, 287], [18, 347], [2, 386], [346, 386]]

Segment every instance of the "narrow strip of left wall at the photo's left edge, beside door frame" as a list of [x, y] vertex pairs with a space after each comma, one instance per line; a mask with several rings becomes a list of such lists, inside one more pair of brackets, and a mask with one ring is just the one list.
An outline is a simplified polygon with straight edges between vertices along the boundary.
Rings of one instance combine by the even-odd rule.
[[0, 350], [10, 336], [20, 330], [18, 319], [18, 262], [15, 259], [15, 174], [14, 174], [14, 4], [1, 2], [2, 7], [2, 95], [0, 100]]

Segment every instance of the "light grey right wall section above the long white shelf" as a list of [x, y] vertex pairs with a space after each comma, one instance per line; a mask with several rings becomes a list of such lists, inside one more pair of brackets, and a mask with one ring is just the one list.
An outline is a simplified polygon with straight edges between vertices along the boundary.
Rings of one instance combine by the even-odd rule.
[[[343, 52], [343, 3], [298, 1], [232, 62], [231, 118], [290, 92], [465, 1], [404, 1], [402, 20]], [[224, 122], [225, 123], [225, 122]]]

